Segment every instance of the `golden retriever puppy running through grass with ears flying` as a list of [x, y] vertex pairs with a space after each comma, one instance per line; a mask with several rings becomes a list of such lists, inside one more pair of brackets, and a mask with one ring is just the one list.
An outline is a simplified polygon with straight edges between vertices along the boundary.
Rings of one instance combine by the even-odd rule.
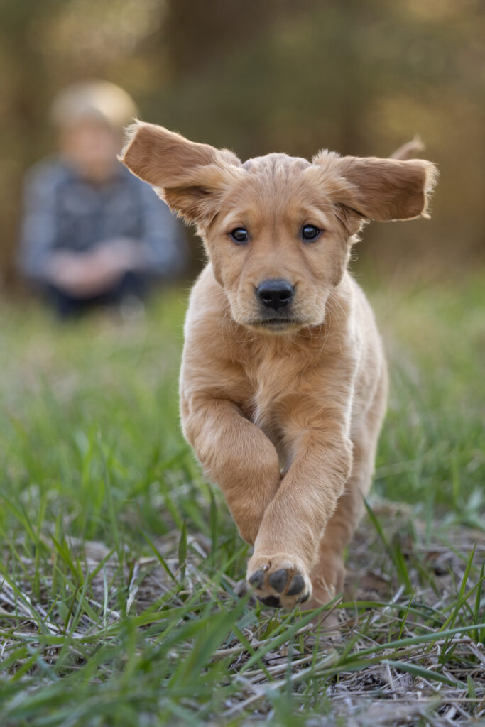
[[387, 395], [350, 249], [367, 220], [426, 216], [436, 167], [326, 150], [311, 162], [273, 153], [241, 164], [143, 123], [129, 129], [121, 161], [204, 241], [180, 411], [254, 545], [247, 579], [268, 606], [326, 603], [342, 590]]

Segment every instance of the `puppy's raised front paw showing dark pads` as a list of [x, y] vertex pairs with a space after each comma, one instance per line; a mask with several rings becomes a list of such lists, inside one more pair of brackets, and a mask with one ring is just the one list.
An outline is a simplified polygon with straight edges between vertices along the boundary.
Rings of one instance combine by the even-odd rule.
[[294, 608], [298, 603], [308, 601], [312, 592], [308, 573], [285, 553], [253, 555], [246, 580], [257, 598], [273, 608]]

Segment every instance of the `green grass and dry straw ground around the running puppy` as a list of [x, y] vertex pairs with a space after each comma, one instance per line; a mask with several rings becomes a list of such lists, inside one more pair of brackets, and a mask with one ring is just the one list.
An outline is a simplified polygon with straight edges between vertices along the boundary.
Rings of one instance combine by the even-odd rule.
[[483, 718], [484, 273], [370, 292], [390, 406], [333, 640], [236, 595], [248, 548], [180, 434], [185, 297], [2, 306], [0, 725]]

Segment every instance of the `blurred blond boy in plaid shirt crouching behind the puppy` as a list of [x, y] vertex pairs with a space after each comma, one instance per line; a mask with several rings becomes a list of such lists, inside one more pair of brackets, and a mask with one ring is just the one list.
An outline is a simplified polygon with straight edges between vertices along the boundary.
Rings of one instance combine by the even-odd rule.
[[142, 299], [151, 279], [183, 270], [178, 223], [116, 158], [135, 113], [107, 81], [74, 84], [52, 105], [60, 153], [27, 174], [19, 264], [60, 316]]

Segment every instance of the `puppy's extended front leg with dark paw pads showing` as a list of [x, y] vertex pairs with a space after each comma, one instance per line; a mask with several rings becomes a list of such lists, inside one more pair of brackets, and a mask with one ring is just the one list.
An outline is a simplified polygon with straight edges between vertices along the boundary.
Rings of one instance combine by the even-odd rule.
[[247, 579], [268, 606], [292, 608], [311, 594], [318, 544], [352, 467], [342, 422], [301, 430], [294, 457], [262, 518]]

